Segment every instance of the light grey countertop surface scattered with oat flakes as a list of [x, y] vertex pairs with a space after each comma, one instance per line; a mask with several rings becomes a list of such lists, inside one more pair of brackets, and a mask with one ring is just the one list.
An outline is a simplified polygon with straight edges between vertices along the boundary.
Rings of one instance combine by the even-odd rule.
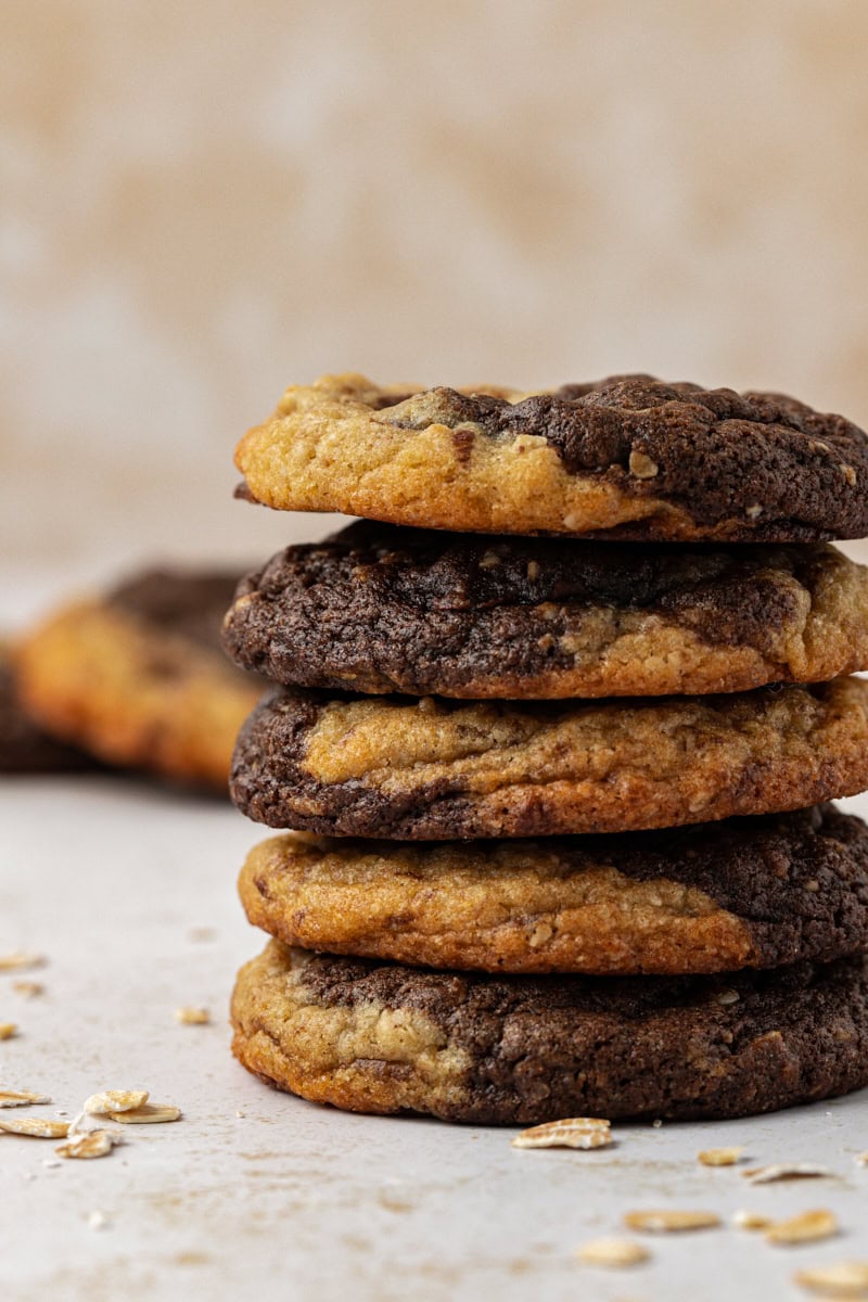
[[[868, 811], [868, 799], [846, 802]], [[868, 1094], [726, 1124], [618, 1126], [616, 1147], [527, 1152], [510, 1131], [342, 1115], [277, 1094], [229, 1055], [237, 967], [260, 948], [233, 884], [263, 835], [228, 805], [126, 779], [0, 783], [0, 953], [46, 954], [38, 997], [0, 975], [0, 1083], [69, 1116], [103, 1088], [183, 1109], [99, 1161], [0, 1137], [0, 1286], [14, 1302], [796, 1298], [802, 1266], [868, 1256]], [[210, 928], [203, 932], [202, 928]], [[206, 1005], [208, 1026], [174, 1021]], [[22, 1115], [23, 1109], [20, 1113]], [[239, 1115], [241, 1113], [241, 1115]], [[7, 1112], [7, 1116], [13, 1113]], [[815, 1161], [834, 1178], [752, 1187], [696, 1152]], [[833, 1208], [838, 1240], [773, 1247], [724, 1228], [645, 1237], [630, 1271], [574, 1250], [651, 1207]], [[107, 1224], [94, 1228], [92, 1212]]]

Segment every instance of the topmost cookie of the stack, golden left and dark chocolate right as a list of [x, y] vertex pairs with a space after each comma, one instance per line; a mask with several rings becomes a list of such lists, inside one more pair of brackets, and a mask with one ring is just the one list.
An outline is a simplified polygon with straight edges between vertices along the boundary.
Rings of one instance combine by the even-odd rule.
[[544, 393], [286, 391], [236, 452], [242, 492], [423, 529], [808, 543], [868, 534], [868, 436], [777, 393], [648, 375]]

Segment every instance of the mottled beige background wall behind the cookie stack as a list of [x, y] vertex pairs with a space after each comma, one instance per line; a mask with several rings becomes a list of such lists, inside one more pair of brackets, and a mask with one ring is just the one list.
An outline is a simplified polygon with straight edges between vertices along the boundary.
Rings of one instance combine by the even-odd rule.
[[312, 533], [233, 504], [230, 452], [324, 370], [868, 423], [863, 0], [0, 13], [7, 570]]

